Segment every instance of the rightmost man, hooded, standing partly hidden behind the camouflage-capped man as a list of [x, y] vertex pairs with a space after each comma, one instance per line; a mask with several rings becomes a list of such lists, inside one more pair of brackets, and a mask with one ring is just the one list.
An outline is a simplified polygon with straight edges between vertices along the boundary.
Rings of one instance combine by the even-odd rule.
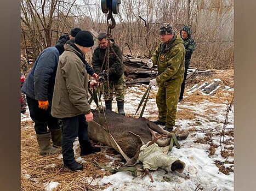
[[184, 94], [184, 89], [185, 89], [185, 81], [186, 81], [186, 77], [187, 77], [187, 69], [189, 69], [190, 59], [191, 59], [192, 53], [194, 52], [194, 50], [196, 48], [195, 41], [194, 41], [194, 39], [191, 38], [191, 28], [189, 26], [184, 26], [183, 28], [181, 28], [180, 36], [184, 41], [186, 54], [185, 54], [184, 80], [181, 83], [179, 101], [183, 100], [183, 94]]

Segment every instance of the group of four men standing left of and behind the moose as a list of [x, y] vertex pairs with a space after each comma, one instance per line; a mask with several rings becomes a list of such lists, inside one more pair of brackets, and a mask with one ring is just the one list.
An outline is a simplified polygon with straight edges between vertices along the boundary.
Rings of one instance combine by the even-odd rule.
[[[99, 67], [103, 63], [102, 55], [110, 46], [110, 40], [105, 33], [100, 33], [98, 39], [99, 47], [95, 49], [93, 65], [98, 74], [107, 74], [106, 80], [109, 80], [110, 85], [107, 86], [106, 81], [104, 82], [104, 86], [109, 88], [105, 89], [106, 103], [113, 99], [113, 91], [110, 90], [113, 86], [117, 94], [118, 111], [125, 115], [121, 49], [115, 42], [111, 42], [113, 50], [109, 50], [110, 63], [103, 74]], [[100, 151], [99, 147], [92, 146], [88, 138], [88, 122], [93, 120], [88, 103], [88, 87], [98, 83], [88, 82], [88, 74], [95, 79], [99, 78], [85, 60], [86, 53], [93, 45], [94, 39], [90, 32], [72, 29], [70, 35], [62, 35], [55, 46], [48, 47], [39, 54], [21, 88], [21, 92], [26, 94], [30, 117], [35, 122], [39, 154], [62, 152], [64, 166], [72, 171], [83, 169], [83, 165], [76, 162], [73, 152], [73, 142], [77, 136], [81, 156]], [[108, 95], [107, 91], [110, 92]], [[112, 108], [107, 106], [107, 109]], [[51, 139], [53, 145], [50, 143]]]

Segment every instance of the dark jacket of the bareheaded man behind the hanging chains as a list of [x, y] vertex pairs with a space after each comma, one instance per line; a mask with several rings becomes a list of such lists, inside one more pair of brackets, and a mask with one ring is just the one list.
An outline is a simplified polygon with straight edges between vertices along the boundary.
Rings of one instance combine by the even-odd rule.
[[[124, 73], [124, 65], [122, 64], [123, 54], [117, 44], [112, 44], [112, 47], [116, 54], [110, 49], [109, 80], [116, 82]], [[105, 54], [106, 49], [101, 49], [100, 46], [96, 47], [93, 52], [93, 69], [97, 74], [100, 74], [102, 70], [106, 70], [106, 64], [103, 65]]]

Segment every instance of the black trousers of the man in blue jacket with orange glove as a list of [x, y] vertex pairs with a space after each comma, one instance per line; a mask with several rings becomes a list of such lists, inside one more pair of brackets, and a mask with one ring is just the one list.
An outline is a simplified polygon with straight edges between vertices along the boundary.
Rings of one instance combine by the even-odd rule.
[[50, 115], [51, 108], [50, 106], [45, 111], [41, 108], [38, 108], [38, 100], [26, 97], [27, 105], [29, 106], [30, 117], [35, 122], [36, 134], [47, 134], [48, 129], [59, 129], [58, 118]]

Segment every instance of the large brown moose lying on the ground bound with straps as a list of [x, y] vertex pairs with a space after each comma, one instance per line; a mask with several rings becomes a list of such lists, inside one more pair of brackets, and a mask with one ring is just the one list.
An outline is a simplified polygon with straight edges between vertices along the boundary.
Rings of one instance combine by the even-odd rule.
[[[108, 110], [92, 110], [92, 112], [94, 120], [89, 122], [89, 138], [120, 152], [127, 161], [124, 166], [138, 163], [140, 147], [149, 141], [155, 142], [159, 147], [165, 147], [170, 145], [172, 133], [175, 133], [178, 140], [186, 139], [188, 136], [187, 131], [181, 131], [179, 128], [174, 132], [167, 132], [144, 117], [128, 117]], [[154, 132], [160, 136], [157, 137]], [[159, 138], [163, 136], [166, 136], [166, 139], [160, 140]], [[172, 167], [173, 165], [176, 165], [176, 168], [174, 166], [172, 170], [181, 173], [183, 170], [180, 169], [184, 169], [185, 163], [177, 160]]]

